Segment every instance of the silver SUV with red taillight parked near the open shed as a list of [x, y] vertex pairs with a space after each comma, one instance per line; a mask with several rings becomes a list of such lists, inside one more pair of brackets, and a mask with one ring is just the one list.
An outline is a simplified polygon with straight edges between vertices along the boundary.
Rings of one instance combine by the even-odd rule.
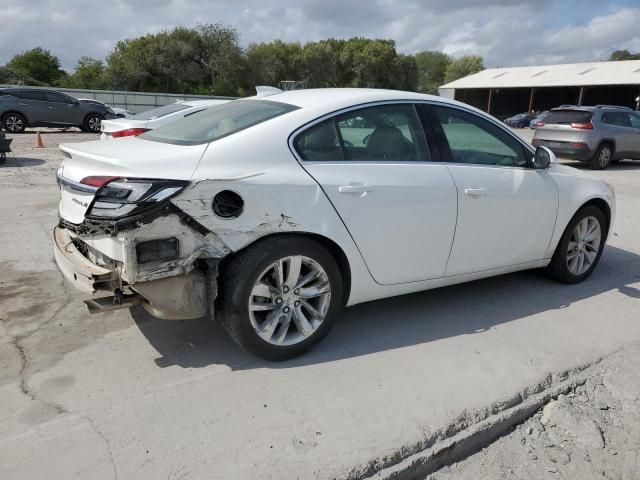
[[623, 158], [640, 159], [640, 115], [611, 105], [554, 108], [531, 143], [601, 170]]

